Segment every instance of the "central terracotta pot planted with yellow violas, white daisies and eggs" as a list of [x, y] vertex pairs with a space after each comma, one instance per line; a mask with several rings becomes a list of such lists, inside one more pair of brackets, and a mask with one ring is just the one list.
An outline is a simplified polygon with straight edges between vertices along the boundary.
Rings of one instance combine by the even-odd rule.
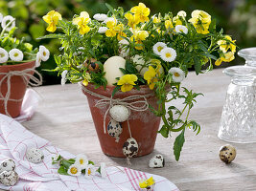
[[[62, 53], [55, 55], [61, 83], [81, 85], [106, 155], [147, 155], [157, 133], [165, 138], [178, 134], [178, 160], [185, 131], [200, 131], [189, 114], [201, 94], [182, 87], [182, 80], [190, 68], [203, 74], [213, 64], [234, 59], [234, 40], [216, 31], [205, 11], [151, 15], [143, 3], [126, 12], [106, 6], [107, 14], [81, 11], [71, 21], [57, 11], [43, 17], [53, 33], [42, 38], [61, 43]], [[175, 107], [176, 99], [183, 100], [183, 108]]]

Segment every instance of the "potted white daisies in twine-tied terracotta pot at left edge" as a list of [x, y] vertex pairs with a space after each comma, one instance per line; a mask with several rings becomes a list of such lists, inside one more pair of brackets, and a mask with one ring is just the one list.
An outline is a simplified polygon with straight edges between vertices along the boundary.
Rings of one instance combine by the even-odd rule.
[[50, 53], [44, 46], [38, 51], [24, 38], [14, 37], [16, 21], [11, 15], [0, 13], [0, 18], [0, 113], [18, 117], [28, 84], [38, 86], [42, 83], [35, 67], [41, 60], [46, 61]]

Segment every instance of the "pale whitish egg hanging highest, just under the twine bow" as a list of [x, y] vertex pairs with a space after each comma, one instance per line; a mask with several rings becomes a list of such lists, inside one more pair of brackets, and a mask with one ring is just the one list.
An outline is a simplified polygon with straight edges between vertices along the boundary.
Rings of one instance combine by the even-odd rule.
[[124, 122], [129, 117], [128, 108], [124, 105], [114, 105], [109, 110], [109, 114], [117, 122]]

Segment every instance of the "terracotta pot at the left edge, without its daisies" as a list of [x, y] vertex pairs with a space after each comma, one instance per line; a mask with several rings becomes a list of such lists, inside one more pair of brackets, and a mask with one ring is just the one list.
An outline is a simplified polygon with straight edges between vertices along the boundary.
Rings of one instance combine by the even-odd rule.
[[[35, 61], [15, 64], [15, 65], [6, 65], [0, 66], [0, 73], [8, 73], [11, 71], [23, 71], [25, 69], [31, 69], [35, 67]], [[29, 73], [33, 74], [33, 72]], [[4, 77], [3, 74], [0, 75], [0, 80]], [[25, 83], [21, 76], [13, 75], [11, 77], [11, 96], [12, 99], [21, 99], [20, 101], [8, 101], [7, 111], [11, 117], [18, 117], [20, 115], [21, 105], [23, 97], [25, 96], [28, 83]], [[6, 96], [7, 93], [7, 79], [5, 79], [0, 86], [0, 91], [3, 96]], [[0, 113], [5, 114], [4, 101], [0, 100]]]

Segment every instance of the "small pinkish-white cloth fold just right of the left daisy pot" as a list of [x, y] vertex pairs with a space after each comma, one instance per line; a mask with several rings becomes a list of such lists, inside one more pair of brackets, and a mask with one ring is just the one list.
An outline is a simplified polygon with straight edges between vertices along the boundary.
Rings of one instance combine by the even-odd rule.
[[33, 89], [27, 89], [26, 94], [22, 101], [21, 113], [15, 120], [24, 122], [30, 120], [35, 113], [35, 109], [38, 106], [40, 96]]

